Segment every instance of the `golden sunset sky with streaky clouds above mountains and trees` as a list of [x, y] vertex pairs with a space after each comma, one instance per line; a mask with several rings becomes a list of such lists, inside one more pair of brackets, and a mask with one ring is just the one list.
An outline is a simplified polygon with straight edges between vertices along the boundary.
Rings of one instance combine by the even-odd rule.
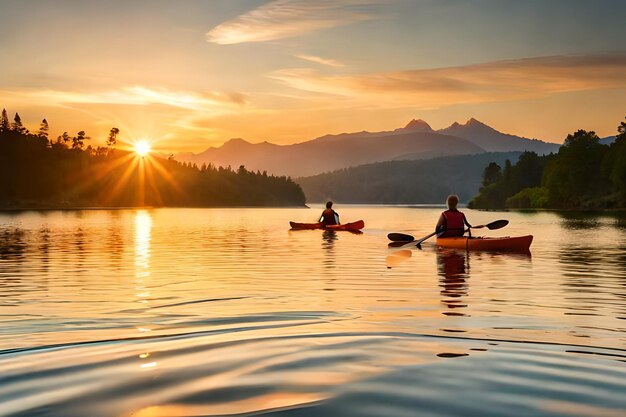
[[0, 0], [0, 108], [200, 152], [435, 129], [562, 143], [626, 116], [623, 0]]

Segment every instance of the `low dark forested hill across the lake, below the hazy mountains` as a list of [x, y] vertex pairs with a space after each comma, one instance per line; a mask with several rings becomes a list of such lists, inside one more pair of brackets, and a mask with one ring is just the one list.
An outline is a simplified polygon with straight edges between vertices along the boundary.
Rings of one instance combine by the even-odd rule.
[[495, 152], [419, 161], [389, 161], [297, 178], [306, 200], [319, 203], [442, 204], [449, 194], [468, 202], [478, 194], [490, 162], [513, 164], [520, 152]]

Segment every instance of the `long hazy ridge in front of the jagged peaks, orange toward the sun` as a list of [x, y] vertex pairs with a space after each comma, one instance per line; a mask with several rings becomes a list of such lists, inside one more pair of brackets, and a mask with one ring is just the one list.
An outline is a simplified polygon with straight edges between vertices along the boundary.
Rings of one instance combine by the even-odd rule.
[[462, 138], [406, 130], [326, 135], [294, 145], [252, 144], [243, 139], [231, 139], [198, 155], [178, 154], [175, 159], [198, 165], [212, 163], [233, 168], [244, 165], [252, 171], [302, 177], [372, 162], [406, 159], [406, 155], [411, 159], [426, 159], [484, 151]]

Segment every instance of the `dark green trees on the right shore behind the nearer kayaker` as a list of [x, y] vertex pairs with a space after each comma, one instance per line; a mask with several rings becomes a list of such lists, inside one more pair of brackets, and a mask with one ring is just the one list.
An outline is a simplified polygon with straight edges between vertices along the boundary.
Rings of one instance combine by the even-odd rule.
[[610, 145], [592, 131], [565, 139], [558, 153], [525, 152], [517, 164], [495, 162], [483, 172], [472, 208], [626, 208], [626, 123]]

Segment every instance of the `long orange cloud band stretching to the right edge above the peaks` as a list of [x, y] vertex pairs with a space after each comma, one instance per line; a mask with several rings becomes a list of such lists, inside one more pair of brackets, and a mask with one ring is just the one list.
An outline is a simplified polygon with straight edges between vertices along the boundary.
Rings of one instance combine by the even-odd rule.
[[626, 54], [550, 56], [359, 75], [285, 69], [270, 77], [298, 90], [342, 96], [350, 105], [435, 109], [626, 87]]

